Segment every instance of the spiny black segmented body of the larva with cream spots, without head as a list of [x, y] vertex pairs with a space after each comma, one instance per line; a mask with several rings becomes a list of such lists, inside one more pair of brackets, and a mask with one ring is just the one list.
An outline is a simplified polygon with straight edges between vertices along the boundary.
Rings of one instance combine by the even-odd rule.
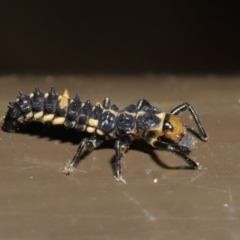
[[156, 108], [140, 110], [131, 104], [120, 111], [116, 105], [110, 106], [109, 100], [93, 106], [89, 100], [81, 102], [78, 95], [70, 99], [67, 90], [58, 95], [53, 87], [49, 93], [35, 87], [29, 96], [21, 91], [19, 94], [15, 102], [9, 103], [3, 124], [5, 131], [13, 132], [21, 122], [35, 120], [117, 138], [137, 134], [139, 130], [155, 129], [162, 119], [159, 117], [161, 111]]

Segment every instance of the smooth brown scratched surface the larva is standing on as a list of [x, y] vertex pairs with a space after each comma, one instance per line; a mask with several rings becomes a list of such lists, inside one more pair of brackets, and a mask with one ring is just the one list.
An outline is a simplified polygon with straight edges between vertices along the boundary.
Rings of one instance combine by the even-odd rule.
[[[93, 103], [109, 97], [124, 108], [146, 98], [171, 111], [197, 110], [209, 134], [190, 157], [202, 170], [164, 168], [184, 162], [135, 143], [123, 159], [127, 184], [113, 179], [111, 144], [85, 157], [70, 176], [61, 171], [82, 136], [41, 124], [0, 132], [2, 239], [239, 239], [240, 154], [238, 77], [6, 76], [0, 115], [18, 90], [34, 86], [61, 94], [67, 87]], [[189, 114], [183, 122], [194, 126]], [[149, 154], [151, 153], [151, 154]]]

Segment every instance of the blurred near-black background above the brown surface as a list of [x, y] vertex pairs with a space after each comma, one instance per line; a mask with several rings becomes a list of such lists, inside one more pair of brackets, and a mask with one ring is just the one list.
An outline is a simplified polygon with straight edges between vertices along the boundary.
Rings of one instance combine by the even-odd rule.
[[239, 1], [0, 1], [0, 74], [235, 74]]

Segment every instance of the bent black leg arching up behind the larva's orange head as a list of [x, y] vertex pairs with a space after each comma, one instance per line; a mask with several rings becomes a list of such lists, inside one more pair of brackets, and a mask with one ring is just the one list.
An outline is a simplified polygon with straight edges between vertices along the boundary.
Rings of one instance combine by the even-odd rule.
[[183, 112], [185, 110], [188, 110], [190, 112], [190, 114], [192, 115], [197, 127], [198, 127], [198, 130], [199, 130], [199, 137], [203, 140], [203, 141], [207, 141], [208, 139], [208, 136], [207, 136], [207, 133], [205, 132], [204, 128], [203, 128], [203, 125], [196, 113], [196, 111], [194, 110], [194, 108], [188, 104], [188, 103], [183, 103], [179, 106], [177, 106], [176, 108], [174, 108], [170, 113], [172, 115], [178, 115], [180, 112]]

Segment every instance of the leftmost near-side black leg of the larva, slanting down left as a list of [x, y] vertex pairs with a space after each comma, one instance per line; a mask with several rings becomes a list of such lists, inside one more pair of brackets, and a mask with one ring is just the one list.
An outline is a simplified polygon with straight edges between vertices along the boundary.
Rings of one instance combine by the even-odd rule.
[[84, 138], [74, 155], [73, 159], [66, 165], [63, 170], [63, 173], [69, 175], [73, 171], [76, 164], [80, 161], [81, 155], [85, 151], [92, 151], [93, 149], [99, 147], [103, 143], [103, 139], [93, 136], [91, 138]]

